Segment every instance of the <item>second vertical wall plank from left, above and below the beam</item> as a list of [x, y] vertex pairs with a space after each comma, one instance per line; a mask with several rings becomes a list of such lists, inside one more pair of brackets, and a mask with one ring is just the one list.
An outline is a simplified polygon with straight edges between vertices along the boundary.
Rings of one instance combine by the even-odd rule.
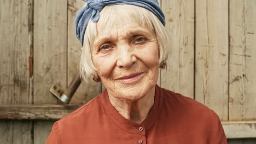
[[[54, 83], [67, 85], [67, 0], [34, 0], [34, 104], [57, 103]], [[34, 122], [34, 142], [45, 143], [52, 125]]]

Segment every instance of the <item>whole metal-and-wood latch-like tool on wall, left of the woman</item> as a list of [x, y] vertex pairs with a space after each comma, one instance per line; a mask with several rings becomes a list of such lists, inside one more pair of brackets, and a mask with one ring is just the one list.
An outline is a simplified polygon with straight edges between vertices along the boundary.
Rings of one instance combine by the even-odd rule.
[[60, 87], [53, 85], [50, 88], [50, 92], [53, 93], [55, 97], [57, 97], [59, 100], [61, 100], [62, 103], [69, 104], [81, 82], [82, 80], [80, 79], [80, 75], [78, 74], [74, 77], [74, 79], [71, 81], [66, 89], [61, 89]]

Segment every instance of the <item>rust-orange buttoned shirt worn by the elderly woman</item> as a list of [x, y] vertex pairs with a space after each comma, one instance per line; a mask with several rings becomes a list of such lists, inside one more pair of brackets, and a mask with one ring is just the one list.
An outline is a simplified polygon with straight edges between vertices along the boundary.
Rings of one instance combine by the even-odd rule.
[[148, 117], [133, 123], [121, 116], [107, 91], [55, 122], [46, 143], [227, 143], [215, 112], [156, 85]]

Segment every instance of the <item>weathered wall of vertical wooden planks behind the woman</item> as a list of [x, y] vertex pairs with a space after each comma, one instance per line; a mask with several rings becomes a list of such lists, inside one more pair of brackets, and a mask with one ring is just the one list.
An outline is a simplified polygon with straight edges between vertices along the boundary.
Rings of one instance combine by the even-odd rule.
[[[256, 120], [256, 1], [159, 0], [172, 45], [159, 85], [200, 101], [222, 121]], [[78, 73], [74, 18], [82, 0], [0, 1], [0, 104], [60, 104], [50, 94]], [[101, 93], [82, 83], [71, 104]], [[0, 121], [1, 143], [44, 143], [54, 121]], [[251, 144], [256, 139], [232, 139]]]

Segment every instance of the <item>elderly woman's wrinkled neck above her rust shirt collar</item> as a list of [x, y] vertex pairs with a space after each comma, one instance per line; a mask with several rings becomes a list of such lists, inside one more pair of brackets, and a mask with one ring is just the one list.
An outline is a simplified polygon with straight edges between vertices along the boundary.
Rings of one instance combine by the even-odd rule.
[[115, 98], [109, 94], [110, 103], [115, 107], [115, 110], [131, 122], [142, 123], [147, 118], [148, 113], [154, 105], [155, 87], [142, 98], [136, 101]]

